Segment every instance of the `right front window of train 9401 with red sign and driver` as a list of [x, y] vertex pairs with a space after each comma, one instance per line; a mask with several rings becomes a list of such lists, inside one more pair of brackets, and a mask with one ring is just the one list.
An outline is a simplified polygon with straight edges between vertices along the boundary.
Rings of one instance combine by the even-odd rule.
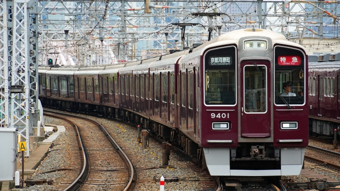
[[297, 49], [274, 47], [274, 103], [289, 107], [305, 102], [305, 55]]

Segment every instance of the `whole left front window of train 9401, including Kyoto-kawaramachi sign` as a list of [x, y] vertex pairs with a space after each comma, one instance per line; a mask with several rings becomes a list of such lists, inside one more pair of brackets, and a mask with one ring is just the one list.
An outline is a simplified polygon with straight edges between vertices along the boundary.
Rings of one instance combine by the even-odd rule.
[[216, 48], [204, 55], [204, 104], [236, 104], [236, 48]]

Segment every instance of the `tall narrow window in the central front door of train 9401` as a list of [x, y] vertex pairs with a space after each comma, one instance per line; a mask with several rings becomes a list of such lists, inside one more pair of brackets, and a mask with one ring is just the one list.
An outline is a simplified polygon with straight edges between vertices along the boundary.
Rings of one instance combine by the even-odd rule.
[[263, 113], [267, 110], [266, 66], [249, 65], [244, 67], [244, 112]]

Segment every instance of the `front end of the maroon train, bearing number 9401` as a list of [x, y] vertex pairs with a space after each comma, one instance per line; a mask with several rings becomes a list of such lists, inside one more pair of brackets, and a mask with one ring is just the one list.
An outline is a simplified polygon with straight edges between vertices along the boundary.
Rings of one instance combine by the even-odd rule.
[[200, 54], [200, 143], [210, 175], [299, 175], [308, 144], [303, 47], [241, 29]]

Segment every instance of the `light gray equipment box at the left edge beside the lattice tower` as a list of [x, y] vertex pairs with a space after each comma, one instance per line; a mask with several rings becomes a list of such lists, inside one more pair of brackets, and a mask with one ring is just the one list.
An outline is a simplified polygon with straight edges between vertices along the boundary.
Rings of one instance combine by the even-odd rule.
[[16, 128], [0, 128], [0, 181], [13, 181], [17, 168]]

